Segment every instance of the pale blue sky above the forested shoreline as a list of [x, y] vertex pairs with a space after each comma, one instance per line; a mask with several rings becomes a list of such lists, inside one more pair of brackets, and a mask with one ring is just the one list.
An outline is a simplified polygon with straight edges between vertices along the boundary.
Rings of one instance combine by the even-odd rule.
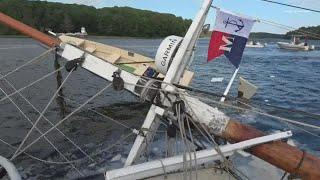
[[[203, 0], [50, 0], [63, 3], [78, 3], [95, 6], [97, 8], [113, 6], [129, 6], [138, 9], [171, 13], [183, 18], [193, 19], [201, 7]], [[274, 0], [282, 3], [303, 6], [320, 10], [320, 0]], [[265, 19], [292, 26], [320, 25], [320, 13], [270, 4], [261, 0], [213, 0], [213, 6], [222, 10], [244, 14], [253, 18]], [[215, 9], [211, 9], [207, 23], [214, 24]], [[265, 23], [256, 23], [254, 32], [285, 33], [280, 29]]]

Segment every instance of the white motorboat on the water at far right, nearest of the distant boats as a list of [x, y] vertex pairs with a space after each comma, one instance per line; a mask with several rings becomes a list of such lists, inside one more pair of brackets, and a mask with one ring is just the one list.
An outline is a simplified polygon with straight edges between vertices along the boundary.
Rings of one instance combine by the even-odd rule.
[[307, 39], [305, 42], [301, 42], [300, 38], [297, 36], [293, 36], [293, 41], [288, 42], [277, 42], [278, 46], [281, 49], [294, 50], [294, 51], [311, 51], [314, 50], [314, 45], [309, 45]]

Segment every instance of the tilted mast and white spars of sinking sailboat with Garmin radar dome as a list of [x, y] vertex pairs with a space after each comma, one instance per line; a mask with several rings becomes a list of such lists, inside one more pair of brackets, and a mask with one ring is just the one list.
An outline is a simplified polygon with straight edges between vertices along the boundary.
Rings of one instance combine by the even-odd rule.
[[[126, 159], [125, 167], [107, 171], [105, 173], [106, 179], [145, 179], [162, 175], [185, 178], [187, 173], [183, 172], [187, 170], [191, 170], [192, 173], [196, 171], [199, 173], [199, 178], [204, 176], [210, 178], [212, 177], [210, 166], [203, 165], [220, 163], [225, 165], [226, 170], [229, 170], [228, 157], [237, 151], [242, 152], [242, 150], [246, 150], [263, 161], [302, 179], [320, 179], [320, 159], [318, 157], [281, 141], [289, 138], [292, 135], [291, 131], [266, 135], [254, 127], [230, 119], [217, 108], [205, 104], [198, 97], [185, 91], [194, 75], [194, 72], [189, 71], [187, 67], [193, 60], [196, 42], [202, 32], [211, 4], [212, 0], [204, 0], [185, 37], [169, 36], [165, 38], [155, 59], [86, 39], [66, 35], [51, 37], [3, 13], [0, 13], [0, 22], [50, 48], [55, 48], [56, 53], [67, 60], [66, 70], [70, 73], [80, 66], [112, 82], [115, 90], [126, 89], [152, 103], [141, 129], [134, 130], [136, 139]], [[222, 16], [229, 16], [229, 14], [222, 13]], [[250, 32], [245, 28], [246, 21], [242, 21], [241, 26], [232, 26], [235, 22], [232, 22], [230, 17], [221, 19], [222, 26], [218, 25], [219, 27], [216, 29], [217, 32], [220, 31], [215, 34], [210, 44], [211, 48], [217, 48], [217, 51], [211, 52], [210, 56], [214, 58], [225, 54], [232, 59], [232, 64], [238, 68], [237, 58], [241, 54], [237, 53], [244, 49], [245, 37]], [[224, 32], [222, 30], [224, 27], [238, 28], [235, 32], [236, 35]], [[242, 29], [246, 32], [241, 31]], [[224, 43], [223, 45], [215, 40], [218, 37], [220, 37], [220, 43]], [[236, 39], [242, 43], [241, 46], [236, 47], [240, 49], [236, 53], [232, 50], [232, 43], [235, 41], [231, 42], [230, 39]], [[226, 94], [222, 97], [225, 98]], [[87, 102], [93, 98], [88, 99]], [[41, 116], [33, 127], [36, 127], [40, 119]], [[189, 125], [189, 121], [193, 122], [195, 126], [198, 125], [205, 132], [204, 136], [209, 138], [212, 146], [208, 149], [194, 150], [191, 154], [184, 153], [179, 156], [138, 163], [147, 144], [155, 135], [154, 132], [159, 126], [160, 119], [166, 119], [170, 126], [177, 125], [176, 128], [180, 129], [185, 144], [196, 144], [192, 136], [190, 137], [183, 132], [185, 126]], [[39, 139], [44, 138], [64, 120], [62, 119], [53, 125], [24, 148], [22, 148], [24, 145], [22, 143], [14, 157], [19, 156]], [[170, 133], [168, 132], [168, 134]], [[223, 138], [229, 143], [219, 146], [215, 141], [216, 137]], [[5, 167], [9, 174], [14, 173], [10, 170], [14, 167]], [[182, 172], [183, 175], [179, 175], [179, 172]], [[11, 175], [10, 177], [15, 176]], [[190, 178], [192, 177], [193, 175], [190, 176]], [[217, 178], [227, 179], [229, 177], [217, 175]]]

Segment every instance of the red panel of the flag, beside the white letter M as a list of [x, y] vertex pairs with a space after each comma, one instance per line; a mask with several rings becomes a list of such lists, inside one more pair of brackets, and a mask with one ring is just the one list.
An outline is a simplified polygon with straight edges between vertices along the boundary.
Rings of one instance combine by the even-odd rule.
[[224, 51], [220, 50], [220, 46], [226, 45], [226, 43], [222, 40], [223, 36], [227, 38], [230, 35], [219, 31], [212, 32], [208, 49], [208, 62], [224, 54]]

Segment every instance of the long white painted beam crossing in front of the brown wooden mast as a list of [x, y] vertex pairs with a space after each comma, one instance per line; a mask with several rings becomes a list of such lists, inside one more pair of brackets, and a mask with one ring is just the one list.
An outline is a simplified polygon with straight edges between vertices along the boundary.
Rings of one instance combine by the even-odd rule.
[[[291, 131], [276, 133], [263, 137], [258, 137], [235, 144], [221, 146], [220, 149], [225, 156], [232, 155], [235, 151], [247, 149], [259, 144], [281, 140], [292, 136]], [[187, 161], [190, 157], [187, 156]], [[194, 160], [194, 156], [191, 157]], [[202, 150], [196, 152], [197, 164], [212, 163], [215, 160], [221, 159], [221, 156], [214, 149]], [[193, 163], [193, 166], [195, 164]], [[155, 160], [138, 165], [127, 166], [121, 169], [115, 169], [106, 172], [107, 180], [125, 180], [125, 179], [144, 179], [152, 176], [162, 175], [165, 173], [175, 172], [183, 168], [183, 156], [175, 156], [161, 160]], [[165, 172], [164, 172], [165, 171]]]

